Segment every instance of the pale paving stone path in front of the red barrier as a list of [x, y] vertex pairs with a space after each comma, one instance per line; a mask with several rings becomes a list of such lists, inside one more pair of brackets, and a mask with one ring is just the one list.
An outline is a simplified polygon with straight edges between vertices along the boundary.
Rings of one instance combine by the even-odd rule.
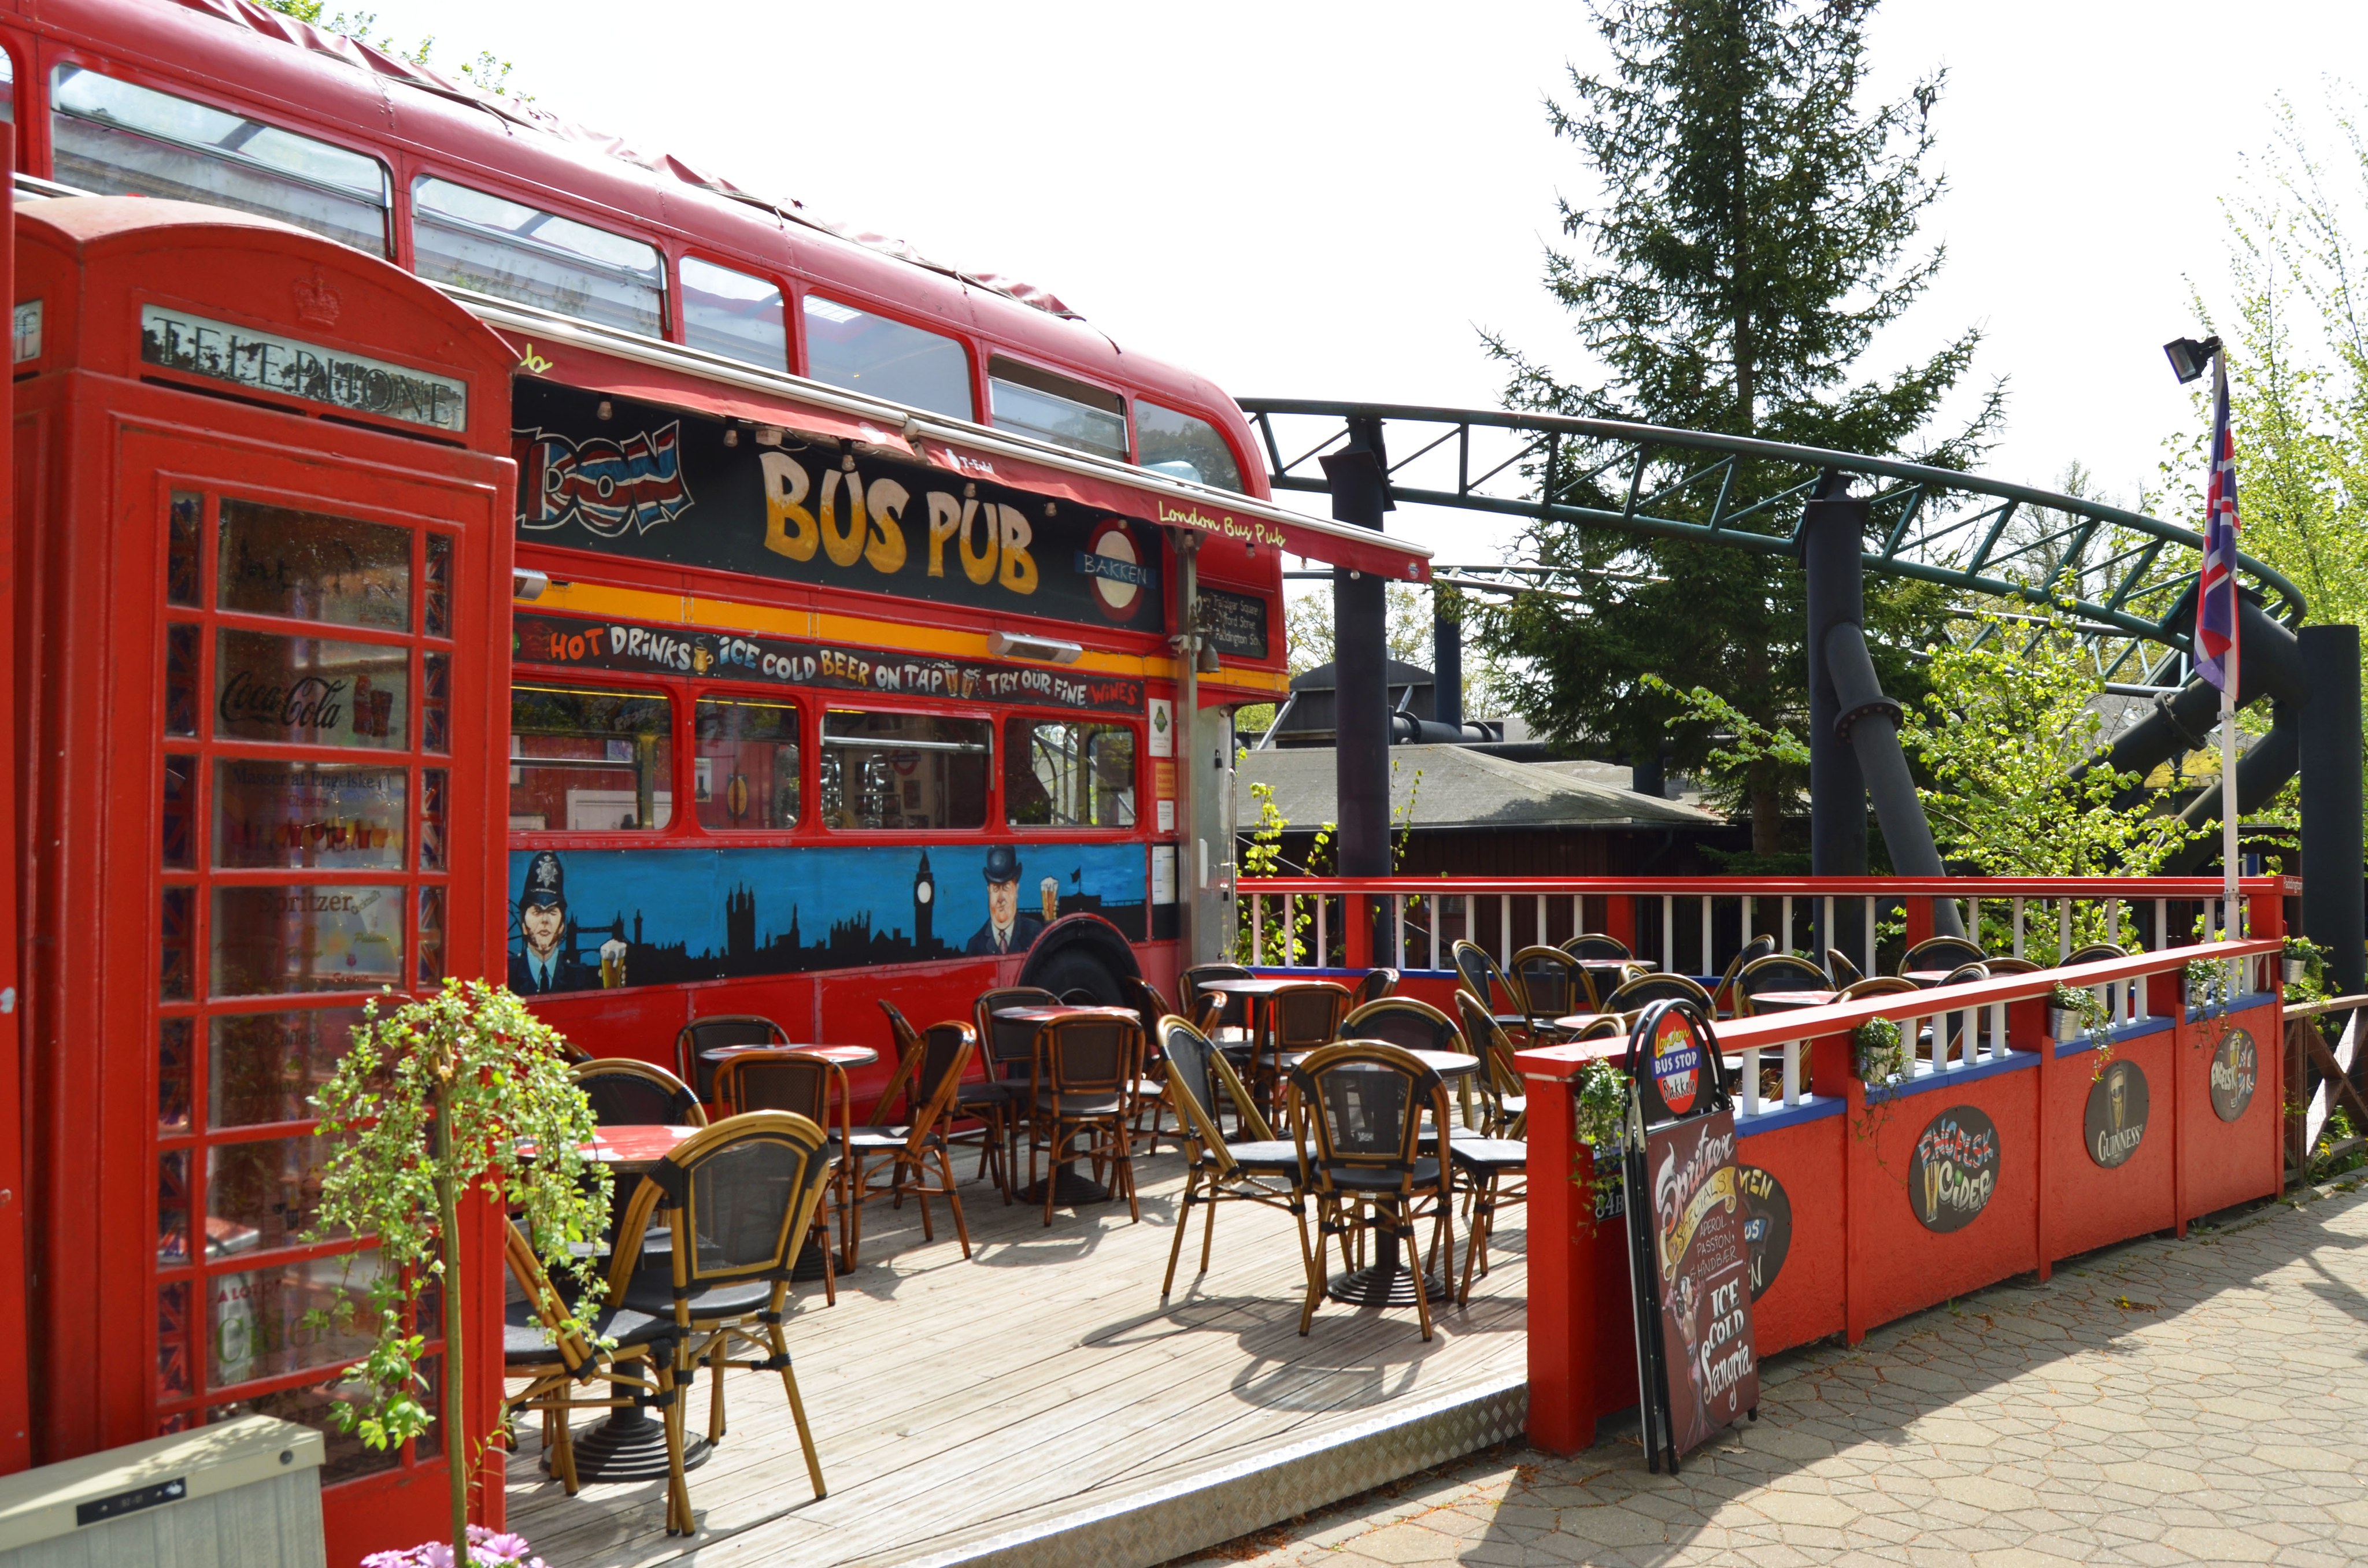
[[1648, 1476], [1634, 1419], [1497, 1450], [1196, 1563], [2368, 1561], [2368, 1191], [2136, 1241], [1762, 1371]]

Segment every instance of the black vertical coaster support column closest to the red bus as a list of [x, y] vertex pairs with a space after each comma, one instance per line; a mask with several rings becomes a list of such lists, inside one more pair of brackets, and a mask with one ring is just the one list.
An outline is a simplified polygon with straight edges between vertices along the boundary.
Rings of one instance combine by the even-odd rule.
[[[1324, 455], [1333, 519], [1381, 528], [1390, 469], [1381, 419], [1350, 419], [1347, 445]], [[1385, 583], [1333, 568], [1333, 784], [1340, 798], [1340, 874], [1390, 874], [1390, 637]]]

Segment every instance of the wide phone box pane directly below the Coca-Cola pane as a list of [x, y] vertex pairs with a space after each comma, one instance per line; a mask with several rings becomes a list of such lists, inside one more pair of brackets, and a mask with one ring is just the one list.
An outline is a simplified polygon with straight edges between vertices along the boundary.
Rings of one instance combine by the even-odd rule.
[[213, 763], [213, 865], [405, 869], [407, 777], [369, 763]]

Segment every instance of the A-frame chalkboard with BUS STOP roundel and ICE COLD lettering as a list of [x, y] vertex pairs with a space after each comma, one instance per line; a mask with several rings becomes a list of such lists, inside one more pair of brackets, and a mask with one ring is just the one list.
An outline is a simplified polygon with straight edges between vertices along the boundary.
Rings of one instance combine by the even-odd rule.
[[1660, 1471], [1738, 1416], [1759, 1419], [1752, 1267], [1736, 1106], [1710, 1018], [1655, 1002], [1629, 1030], [1624, 1153], [1636, 1400]]

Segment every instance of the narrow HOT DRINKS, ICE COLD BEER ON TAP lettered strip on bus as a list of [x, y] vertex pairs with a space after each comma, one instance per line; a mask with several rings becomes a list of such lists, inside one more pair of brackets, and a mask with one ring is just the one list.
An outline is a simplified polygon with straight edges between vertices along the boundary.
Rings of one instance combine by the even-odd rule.
[[838, 642], [701, 632], [549, 611], [519, 611], [511, 618], [509, 654], [519, 663], [556, 663], [575, 670], [710, 675], [824, 692], [957, 696], [1077, 713], [1144, 711], [1144, 682], [1132, 675], [1085, 675], [987, 658], [931, 658]]

